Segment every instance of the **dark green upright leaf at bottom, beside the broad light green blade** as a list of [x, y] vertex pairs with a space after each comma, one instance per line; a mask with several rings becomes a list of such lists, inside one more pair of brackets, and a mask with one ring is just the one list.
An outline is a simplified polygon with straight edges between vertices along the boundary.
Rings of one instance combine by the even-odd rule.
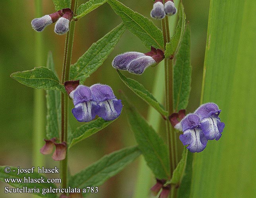
[[[187, 149], [186, 149], [187, 150]], [[186, 168], [178, 188], [178, 198], [189, 198], [191, 191], [193, 153], [187, 151]]]

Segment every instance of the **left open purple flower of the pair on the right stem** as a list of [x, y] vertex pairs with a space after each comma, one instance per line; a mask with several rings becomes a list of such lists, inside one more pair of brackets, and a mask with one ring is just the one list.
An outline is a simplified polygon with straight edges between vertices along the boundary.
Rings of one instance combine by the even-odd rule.
[[208, 139], [200, 128], [200, 118], [196, 114], [188, 114], [181, 120], [183, 134], [180, 141], [188, 145], [190, 152], [201, 152], [206, 147]]

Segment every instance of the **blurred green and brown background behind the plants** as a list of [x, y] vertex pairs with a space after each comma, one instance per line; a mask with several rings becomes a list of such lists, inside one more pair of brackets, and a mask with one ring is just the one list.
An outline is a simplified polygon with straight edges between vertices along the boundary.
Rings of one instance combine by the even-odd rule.
[[[80, 4], [84, 2], [85, 0], [80, 0]], [[121, 0], [121, 2], [134, 11], [138, 11], [150, 18], [151, 0]], [[192, 32], [192, 90], [188, 106], [188, 112], [192, 112], [200, 103], [209, 0], [184, 0], [183, 3]], [[2, 8], [0, 13], [0, 84], [2, 86], [0, 97], [0, 165], [30, 168], [33, 166], [31, 141], [33, 130], [33, 89], [11, 79], [10, 74], [35, 67], [35, 34], [43, 34], [43, 59], [46, 63], [47, 53], [52, 51], [55, 67], [60, 76], [65, 36], [55, 34], [53, 32], [54, 25], [50, 25], [41, 33], [37, 33], [31, 28], [31, 20], [35, 17], [33, 0], [0, 1], [0, 7]], [[43, 0], [43, 13], [52, 12], [54, 12], [52, 1]], [[76, 23], [72, 63], [75, 63], [93, 42], [96, 42], [119, 23], [121, 23], [120, 17], [111, 10], [108, 4], [99, 7], [78, 21]], [[154, 23], [160, 27], [159, 21], [154, 21]], [[97, 82], [109, 84], [118, 98], [121, 97], [118, 90], [122, 89], [140, 113], [146, 117], [148, 105], [126, 88], [111, 66], [112, 59], [117, 54], [125, 51], [147, 52], [147, 49], [138, 38], [126, 31], [107, 61], [86, 80], [85, 84], [87, 86]], [[155, 68], [147, 69], [142, 76], [132, 77], [151, 91]], [[127, 76], [130, 75], [127, 74]], [[70, 106], [72, 107], [72, 105]], [[70, 115], [70, 122], [72, 128], [80, 125], [72, 115]], [[164, 130], [163, 127], [162, 129]], [[116, 122], [78, 143], [70, 150], [70, 172], [74, 174], [95, 162], [104, 154], [135, 144], [134, 135], [128, 127], [124, 112]], [[132, 197], [136, 183], [138, 162], [139, 160], [136, 160], [116, 177], [109, 179], [99, 188], [98, 194], [90, 197]], [[58, 166], [58, 162], [54, 162], [50, 155], [45, 156], [45, 166], [49, 168]], [[54, 175], [54, 177], [58, 177], [58, 175]], [[14, 197], [13, 194], [3, 193], [5, 186], [6, 184], [0, 183], [0, 197]], [[30, 194], [15, 194], [15, 197], [27, 198], [29, 196]]]

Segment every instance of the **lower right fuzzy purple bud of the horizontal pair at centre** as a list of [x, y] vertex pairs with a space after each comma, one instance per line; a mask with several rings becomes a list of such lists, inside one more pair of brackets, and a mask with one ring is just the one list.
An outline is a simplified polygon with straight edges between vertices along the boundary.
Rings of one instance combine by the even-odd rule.
[[143, 57], [133, 60], [127, 67], [127, 70], [130, 73], [140, 75], [147, 67], [155, 65], [157, 65], [157, 62], [151, 56], [144, 55]]

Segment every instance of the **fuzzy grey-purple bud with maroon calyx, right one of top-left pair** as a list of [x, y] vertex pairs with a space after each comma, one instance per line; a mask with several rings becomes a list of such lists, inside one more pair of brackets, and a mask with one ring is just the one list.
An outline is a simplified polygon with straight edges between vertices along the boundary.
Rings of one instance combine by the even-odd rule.
[[73, 17], [73, 11], [71, 11], [69, 8], [62, 9], [62, 11], [64, 14], [58, 19], [54, 27], [54, 32], [59, 35], [68, 32], [69, 24]]

